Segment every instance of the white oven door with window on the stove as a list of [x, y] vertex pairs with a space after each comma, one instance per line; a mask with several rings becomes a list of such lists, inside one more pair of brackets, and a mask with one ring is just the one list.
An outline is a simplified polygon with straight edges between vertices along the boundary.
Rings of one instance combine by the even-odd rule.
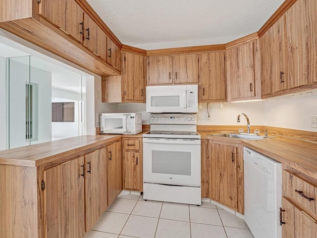
[[143, 180], [201, 187], [201, 141], [143, 138]]

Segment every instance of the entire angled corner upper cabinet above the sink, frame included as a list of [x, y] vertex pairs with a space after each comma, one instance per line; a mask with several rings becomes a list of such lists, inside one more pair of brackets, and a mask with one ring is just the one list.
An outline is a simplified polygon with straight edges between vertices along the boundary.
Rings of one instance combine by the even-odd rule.
[[228, 101], [261, 99], [259, 40], [226, 50]]

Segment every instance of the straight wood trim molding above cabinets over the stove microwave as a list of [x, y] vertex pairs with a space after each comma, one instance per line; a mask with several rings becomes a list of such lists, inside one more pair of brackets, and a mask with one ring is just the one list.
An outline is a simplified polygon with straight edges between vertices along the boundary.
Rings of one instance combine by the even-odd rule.
[[167, 49], [152, 49], [147, 50], [147, 55], [164, 55], [164, 54], [180, 54], [180, 53], [196, 53], [206, 51], [220, 51], [225, 50], [226, 45], [209, 45], [209, 46], [195, 46], [195, 47], [180, 47], [180, 48], [167, 48]]

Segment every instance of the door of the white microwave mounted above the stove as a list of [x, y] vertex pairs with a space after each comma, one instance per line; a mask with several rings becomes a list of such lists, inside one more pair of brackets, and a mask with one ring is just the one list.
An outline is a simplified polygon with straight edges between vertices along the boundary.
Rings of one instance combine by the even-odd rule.
[[[158, 86], [166, 87], [166, 86]], [[147, 112], [187, 112], [186, 86], [173, 90], [156, 90], [157, 87], [147, 87]]]

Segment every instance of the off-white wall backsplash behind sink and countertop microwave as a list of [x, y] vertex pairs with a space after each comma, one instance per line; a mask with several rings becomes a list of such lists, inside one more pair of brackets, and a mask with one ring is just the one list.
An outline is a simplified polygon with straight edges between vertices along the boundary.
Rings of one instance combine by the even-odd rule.
[[[142, 123], [150, 124], [150, 114], [145, 104], [125, 104], [117, 106], [117, 112], [142, 113]], [[199, 104], [198, 125], [241, 125], [247, 124], [244, 117], [237, 122], [239, 113], [246, 113], [251, 125], [265, 125], [306, 131], [317, 131], [310, 127], [310, 116], [317, 115], [317, 95], [301, 98], [280, 98], [266, 101], [210, 103], [210, 120], [207, 121], [207, 103]]]

